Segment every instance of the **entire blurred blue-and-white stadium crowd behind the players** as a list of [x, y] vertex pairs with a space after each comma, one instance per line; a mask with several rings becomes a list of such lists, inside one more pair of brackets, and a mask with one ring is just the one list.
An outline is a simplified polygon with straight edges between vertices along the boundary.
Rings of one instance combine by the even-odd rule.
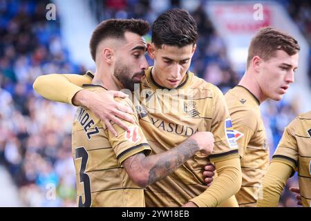
[[[152, 23], [160, 12], [180, 6], [180, 2], [106, 0], [90, 1], [90, 7], [98, 21], [139, 17]], [[42, 74], [84, 73], [86, 70], [70, 61], [66, 46], [62, 45], [59, 18], [46, 20], [48, 3], [50, 1], [0, 0], [0, 164], [12, 175], [24, 206], [76, 206], [71, 156], [75, 108], [43, 99], [32, 90], [32, 83]], [[311, 44], [310, 3], [281, 3], [285, 3]], [[200, 4], [191, 14], [198, 22], [200, 33], [191, 70], [225, 93], [238, 83], [243, 73], [232, 70], [225, 44]], [[297, 114], [297, 104], [285, 100], [266, 103], [263, 117], [272, 154], [284, 127]], [[288, 184], [298, 186], [296, 177]], [[288, 188], [285, 189], [281, 206], [296, 206], [293, 199]]]

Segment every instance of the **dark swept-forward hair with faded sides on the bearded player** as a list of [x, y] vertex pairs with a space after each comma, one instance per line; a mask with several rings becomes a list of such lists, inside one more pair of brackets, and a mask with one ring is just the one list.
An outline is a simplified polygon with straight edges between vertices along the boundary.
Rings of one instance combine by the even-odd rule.
[[90, 40], [93, 60], [96, 59], [97, 46], [102, 40], [107, 38], [124, 39], [125, 32], [133, 32], [143, 36], [149, 32], [149, 29], [149, 23], [142, 19], [108, 19], [102, 21], [93, 31]]

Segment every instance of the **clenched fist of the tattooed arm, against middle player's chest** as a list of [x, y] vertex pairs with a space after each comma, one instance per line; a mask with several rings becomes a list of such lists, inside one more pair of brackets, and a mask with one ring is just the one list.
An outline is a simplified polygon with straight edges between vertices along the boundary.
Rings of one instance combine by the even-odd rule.
[[198, 144], [200, 151], [205, 155], [210, 155], [214, 149], [214, 135], [210, 132], [197, 132], [194, 135], [189, 137], [196, 141]]

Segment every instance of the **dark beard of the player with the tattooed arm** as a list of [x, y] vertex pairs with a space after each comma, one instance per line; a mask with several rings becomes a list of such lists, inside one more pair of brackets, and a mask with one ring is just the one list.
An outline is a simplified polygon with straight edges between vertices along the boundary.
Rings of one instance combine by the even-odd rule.
[[134, 84], [140, 84], [141, 82], [133, 78], [135, 76], [144, 76], [144, 70], [142, 70], [140, 73], [132, 74], [129, 67], [120, 64], [120, 62], [117, 62], [115, 65], [115, 73], [113, 73], [113, 75], [118, 81], [120, 81], [120, 84], [122, 84], [123, 88], [133, 91]]

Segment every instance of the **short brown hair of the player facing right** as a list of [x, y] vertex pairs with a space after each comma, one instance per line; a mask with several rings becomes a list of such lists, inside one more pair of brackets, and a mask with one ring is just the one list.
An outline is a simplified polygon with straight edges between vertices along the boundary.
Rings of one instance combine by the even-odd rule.
[[247, 56], [247, 68], [253, 57], [259, 56], [267, 61], [275, 55], [276, 50], [284, 50], [292, 56], [299, 52], [298, 41], [291, 35], [272, 27], [261, 28], [253, 37]]

